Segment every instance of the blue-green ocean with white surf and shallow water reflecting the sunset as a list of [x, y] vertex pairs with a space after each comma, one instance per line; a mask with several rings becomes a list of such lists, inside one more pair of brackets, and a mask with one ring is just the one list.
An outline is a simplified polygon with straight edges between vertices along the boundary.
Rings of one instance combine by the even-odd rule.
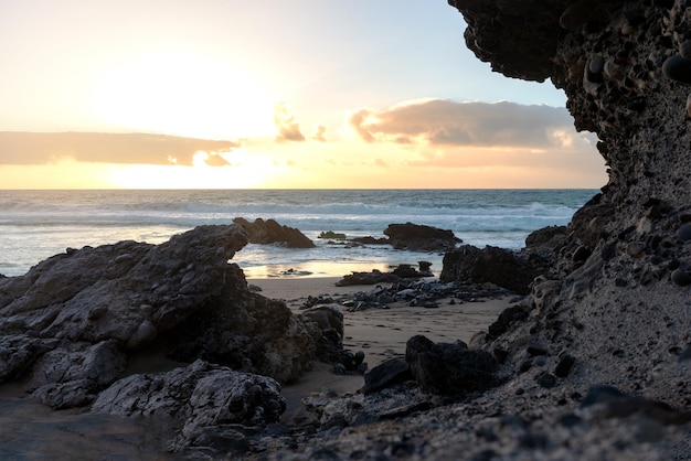
[[520, 248], [541, 227], [564, 225], [596, 190], [180, 190], [0, 191], [0, 274], [19, 276], [41, 260], [82, 248], [138, 240], [159, 244], [234, 217], [274, 218], [311, 238], [312, 249], [247, 245], [236, 262], [247, 278], [343, 276], [433, 264], [440, 254], [372, 245], [347, 248], [318, 238], [384, 237], [389, 224], [451, 229], [466, 244]]

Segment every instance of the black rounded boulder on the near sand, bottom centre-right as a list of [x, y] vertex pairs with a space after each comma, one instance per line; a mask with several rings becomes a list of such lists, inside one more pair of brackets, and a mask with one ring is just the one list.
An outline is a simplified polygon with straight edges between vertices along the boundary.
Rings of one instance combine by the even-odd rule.
[[421, 389], [430, 394], [466, 395], [495, 385], [497, 361], [486, 351], [469, 350], [463, 342], [435, 344], [427, 337], [411, 337], [405, 361]]

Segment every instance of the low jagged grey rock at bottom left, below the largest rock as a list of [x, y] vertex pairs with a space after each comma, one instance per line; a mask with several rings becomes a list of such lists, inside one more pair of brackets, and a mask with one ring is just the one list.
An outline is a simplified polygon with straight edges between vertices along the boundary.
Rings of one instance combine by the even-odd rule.
[[181, 451], [204, 427], [277, 422], [286, 404], [280, 386], [266, 376], [196, 361], [167, 373], [132, 375], [100, 393], [92, 411], [126, 418], [172, 419]]

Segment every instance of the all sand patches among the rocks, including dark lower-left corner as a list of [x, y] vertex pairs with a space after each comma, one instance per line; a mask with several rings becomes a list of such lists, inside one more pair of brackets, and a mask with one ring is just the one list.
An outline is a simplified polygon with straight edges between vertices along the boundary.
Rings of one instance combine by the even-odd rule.
[[[259, 278], [248, 283], [259, 287], [261, 294], [285, 300], [295, 313], [309, 297], [341, 297], [369, 291], [370, 286], [336, 287], [338, 277]], [[468, 341], [497, 319], [509, 303], [508, 299], [478, 300], [471, 303], [449, 304], [440, 300], [439, 308], [425, 309], [392, 304], [390, 309], [349, 312], [344, 315], [346, 349], [363, 351], [372, 368], [386, 358], [404, 355], [405, 342], [415, 334], [433, 341]], [[157, 355], [158, 354], [158, 355]], [[174, 366], [162, 352], [139, 355], [129, 363], [128, 373], [152, 373]], [[328, 388], [339, 394], [357, 393], [364, 380], [362, 375], [337, 375], [331, 365], [315, 363], [311, 372], [297, 383], [283, 387], [286, 411], [281, 424], [304, 425], [312, 416], [305, 410], [301, 399]], [[0, 457], [62, 455], [103, 457], [123, 455], [126, 459], [168, 459], [164, 453], [167, 436], [158, 425], [132, 421], [107, 415], [79, 410], [51, 410], [24, 394], [18, 384], [0, 387], [0, 424], [8, 436], [0, 442]], [[77, 458], [78, 458], [77, 457]]]

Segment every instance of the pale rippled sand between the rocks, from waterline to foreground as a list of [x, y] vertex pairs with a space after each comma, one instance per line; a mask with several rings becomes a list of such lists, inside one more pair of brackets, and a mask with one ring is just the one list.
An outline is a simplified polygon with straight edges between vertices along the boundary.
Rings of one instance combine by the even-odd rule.
[[[361, 291], [370, 291], [372, 286], [337, 287], [340, 277], [306, 278], [263, 278], [247, 282], [262, 289], [261, 294], [279, 299], [295, 312], [309, 296], [330, 296], [338, 299]], [[468, 342], [474, 334], [486, 330], [497, 320], [499, 313], [510, 304], [510, 298], [478, 299], [477, 302], [451, 304], [450, 299], [438, 301], [436, 309], [410, 307], [393, 303], [389, 309], [371, 309], [362, 312], [349, 312], [342, 308], [344, 323], [343, 346], [353, 352], [362, 351], [364, 362], [370, 368], [383, 361], [405, 355], [406, 341], [416, 334], [423, 334], [434, 342]], [[358, 374], [336, 375], [329, 366], [317, 364], [315, 369], [298, 383], [284, 387], [287, 409], [283, 416], [285, 424], [299, 424], [308, 418], [301, 399], [323, 388], [338, 393], [354, 393], [364, 384]]]

